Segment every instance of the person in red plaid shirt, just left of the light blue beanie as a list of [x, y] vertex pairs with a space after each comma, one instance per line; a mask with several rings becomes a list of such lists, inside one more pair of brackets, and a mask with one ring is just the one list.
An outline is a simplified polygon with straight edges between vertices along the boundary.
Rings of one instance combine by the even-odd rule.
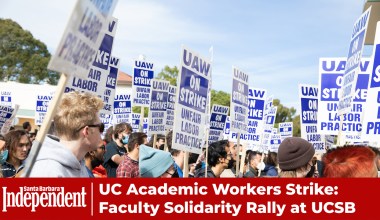
[[147, 136], [143, 132], [134, 132], [129, 135], [128, 153], [123, 155], [122, 162], [116, 170], [118, 178], [139, 177], [139, 152], [140, 147], [147, 144]]

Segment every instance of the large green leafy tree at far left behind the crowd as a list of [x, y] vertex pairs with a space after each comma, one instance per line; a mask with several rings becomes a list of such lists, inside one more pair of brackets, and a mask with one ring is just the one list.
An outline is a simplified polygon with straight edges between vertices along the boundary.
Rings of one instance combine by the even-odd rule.
[[59, 74], [47, 69], [50, 53], [18, 23], [0, 19], [0, 80], [56, 85]]

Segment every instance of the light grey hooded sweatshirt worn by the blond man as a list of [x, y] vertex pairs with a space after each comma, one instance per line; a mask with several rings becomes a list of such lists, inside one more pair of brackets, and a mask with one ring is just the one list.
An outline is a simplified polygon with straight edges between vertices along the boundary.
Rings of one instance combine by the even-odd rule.
[[89, 177], [84, 160], [78, 161], [62, 143], [47, 136], [30, 177]]

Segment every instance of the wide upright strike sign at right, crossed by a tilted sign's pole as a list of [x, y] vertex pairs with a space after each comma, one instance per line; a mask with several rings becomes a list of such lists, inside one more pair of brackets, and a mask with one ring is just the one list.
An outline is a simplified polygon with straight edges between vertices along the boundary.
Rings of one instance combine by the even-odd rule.
[[[360, 141], [363, 103], [367, 98], [369, 62], [368, 58], [362, 58], [351, 112], [343, 116], [342, 135], [349, 142]], [[319, 134], [338, 135], [339, 133], [339, 88], [343, 83], [345, 65], [345, 58], [320, 58], [319, 60], [317, 126]]]

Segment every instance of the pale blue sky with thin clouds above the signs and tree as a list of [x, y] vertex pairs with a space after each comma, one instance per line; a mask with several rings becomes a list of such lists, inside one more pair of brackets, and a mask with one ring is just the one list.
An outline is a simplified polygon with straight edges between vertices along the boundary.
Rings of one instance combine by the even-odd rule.
[[[113, 56], [133, 73], [140, 54], [179, 66], [181, 45], [211, 57], [212, 88], [231, 93], [232, 66], [250, 87], [299, 107], [298, 84], [318, 85], [320, 57], [347, 57], [364, 0], [119, 0]], [[76, 0], [0, 0], [0, 18], [16, 21], [54, 54]], [[371, 51], [371, 50], [367, 50]], [[370, 56], [364, 52], [363, 56]], [[299, 114], [299, 111], [297, 112]]]

